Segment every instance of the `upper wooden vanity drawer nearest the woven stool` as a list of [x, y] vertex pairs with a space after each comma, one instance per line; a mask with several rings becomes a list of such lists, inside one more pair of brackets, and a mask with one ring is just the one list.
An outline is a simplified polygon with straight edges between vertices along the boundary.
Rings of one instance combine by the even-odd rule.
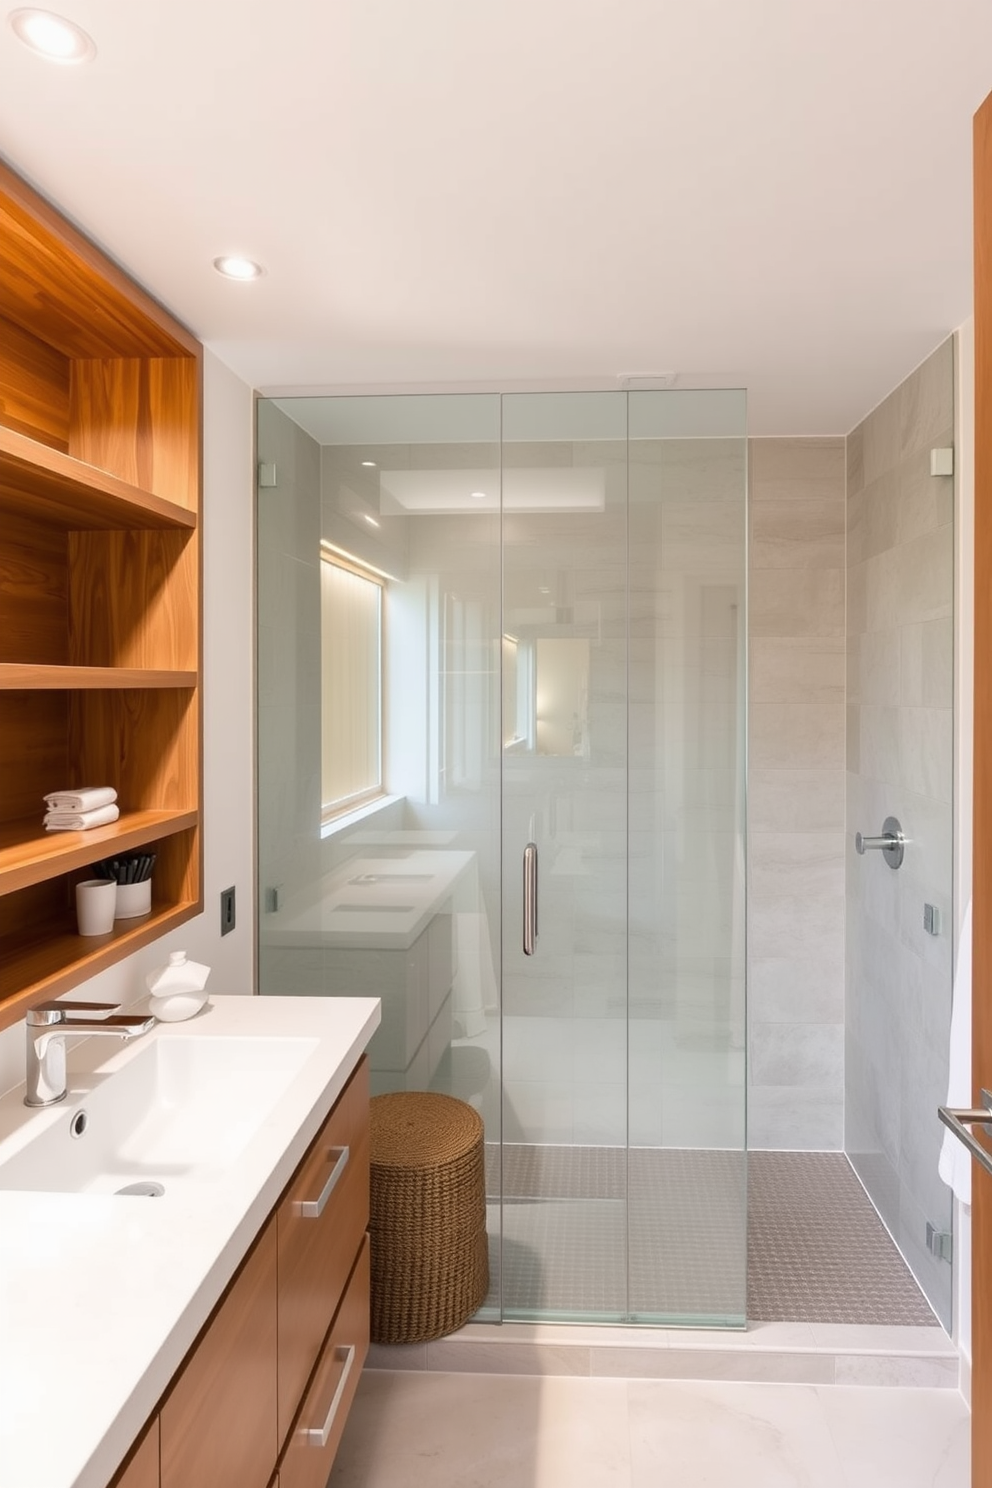
[[[357, 1065], [317, 1141], [303, 1158], [280, 1201], [277, 1216], [278, 1420], [283, 1442], [369, 1225], [366, 1058]], [[366, 1333], [367, 1326], [366, 1318]]]

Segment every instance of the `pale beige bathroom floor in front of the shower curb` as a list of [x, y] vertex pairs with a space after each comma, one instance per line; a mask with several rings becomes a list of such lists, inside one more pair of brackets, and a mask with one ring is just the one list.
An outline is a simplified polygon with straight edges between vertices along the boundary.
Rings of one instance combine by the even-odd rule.
[[329, 1488], [968, 1488], [955, 1390], [363, 1375]]

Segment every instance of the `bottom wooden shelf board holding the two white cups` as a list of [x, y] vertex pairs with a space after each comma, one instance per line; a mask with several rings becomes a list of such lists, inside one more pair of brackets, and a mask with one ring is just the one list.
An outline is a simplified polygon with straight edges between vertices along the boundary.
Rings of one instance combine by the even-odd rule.
[[6, 936], [0, 951], [0, 1006], [4, 1022], [48, 997], [71, 991], [85, 976], [149, 945], [168, 930], [199, 914], [198, 903], [153, 903], [152, 912], [117, 920], [110, 934], [80, 936], [71, 918], [46, 926], [43, 933], [25, 930]]

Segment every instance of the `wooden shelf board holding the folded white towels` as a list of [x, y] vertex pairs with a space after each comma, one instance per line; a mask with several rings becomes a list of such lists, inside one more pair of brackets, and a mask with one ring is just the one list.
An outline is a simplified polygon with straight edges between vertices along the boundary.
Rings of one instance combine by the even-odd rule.
[[110, 826], [88, 832], [46, 832], [40, 817], [4, 821], [0, 826], [0, 894], [13, 894], [101, 857], [116, 857], [184, 832], [195, 827], [196, 820], [196, 811], [122, 811]]

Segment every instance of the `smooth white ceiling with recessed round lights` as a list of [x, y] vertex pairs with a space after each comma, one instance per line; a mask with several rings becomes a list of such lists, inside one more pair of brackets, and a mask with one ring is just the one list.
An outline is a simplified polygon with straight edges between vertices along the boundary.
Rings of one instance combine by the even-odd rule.
[[971, 312], [989, 0], [48, 3], [98, 55], [1, 25], [0, 153], [262, 390], [678, 372], [846, 433]]

